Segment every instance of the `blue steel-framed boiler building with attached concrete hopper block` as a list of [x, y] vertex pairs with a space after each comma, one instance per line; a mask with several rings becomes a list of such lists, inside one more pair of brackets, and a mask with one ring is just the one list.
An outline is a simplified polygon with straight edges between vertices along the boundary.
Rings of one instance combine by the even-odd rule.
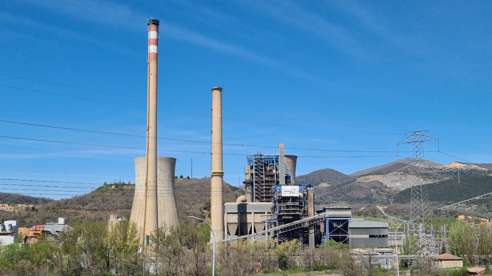
[[[225, 204], [227, 238], [254, 234], [272, 227], [306, 219], [314, 215], [314, 194], [311, 185], [295, 183], [297, 156], [284, 155], [279, 144], [278, 154], [261, 153], [246, 157], [245, 190], [239, 202]], [[305, 225], [275, 234], [277, 243], [298, 239], [315, 245], [315, 227]], [[266, 236], [256, 237], [264, 239]]]

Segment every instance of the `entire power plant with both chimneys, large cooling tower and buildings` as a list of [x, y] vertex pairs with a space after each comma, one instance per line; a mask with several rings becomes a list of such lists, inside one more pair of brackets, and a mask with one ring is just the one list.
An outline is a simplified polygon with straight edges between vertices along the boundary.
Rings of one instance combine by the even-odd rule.
[[[142, 243], [152, 244], [157, 227], [179, 224], [174, 188], [176, 159], [157, 157], [157, 40], [159, 20], [150, 18], [148, 48], [147, 155], [135, 158], [135, 193], [130, 221], [142, 232]], [[351, 219], [350, 207], [314, 208], [314, 187], [296, 183], [297, 156], [260, 152], [246, 157], [246, 193], [236, 202], [223, 200], [222, 87], [212, 87], [212, 164], [210, 171], [211, 242], [238, 239], [276, 243], [297, 239], [314, 248], [325, 240], [388, 247], [388, 223]], [[356, 223], [357, 222], [357, 223]], [[350, 233], [357, 233], [350, 237]], [[364, 234], [370, 232], [371, 234]]]

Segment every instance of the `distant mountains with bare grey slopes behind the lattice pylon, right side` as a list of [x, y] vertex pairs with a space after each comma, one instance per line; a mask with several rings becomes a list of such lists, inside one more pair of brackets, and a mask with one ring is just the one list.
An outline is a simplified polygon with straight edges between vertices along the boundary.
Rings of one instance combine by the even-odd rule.
[[[432, 187], [442, 188], [446, 185], [461, 185], [459, 194], [455, 193], [437, 193], [432, 194], [432, 201], [436, 202], [456, 202], [465, 200], [473, 196], [492, 192], [487, 186], [476, 187], [473, 183], [490, 183], [492, 177], [487, 176], [492, 172], [492, 164], [472, 164], [463, 162], [451, 162], [441, 165], [435, 162], [424, 160], [432, 166], [445, 166], [448, 168], [459, 169], [460, 183], [458, 182], [457, 171], [445, 172], [438, 177], [426, 175], [426, 179], [416, 179], [412, 175], [388, 175], [390, 172], [398, 170], [407, 165], [412, 159], [397, 159], [393, 162], [362, 169], [350, 174], [344, 174], [333, 169], [320, 169], [305, 175], [296, 176], [296, 183], [313, 185], [315, 200], [317, 204], [332, 204], [337, 202], [354, 203], [354, 204], [389, 204], [390, 198], [400, 201], [400, 203], [409, 202], [409, 187], [415, 183], [439, 183], [440, 186]], [[436, 177], [436, 178], [431, 178]], [[469, 178], [472, 177], [472, 178]], [[456, 182], [456, 183], [455, 183]], [[453, 184], [455, 183], [455, 184]], [[468, 183], [471, 183], [468, 185]], [[453, 186], [453, 189], [456, 187]], [[456, 190], [456, 189], [455, 189]], [[405, 191], [402, 193], [402, 191]], [[484, 193], [483, 193], [484, 192]], [[401, 194], [400, 194], [401, 193]], [[439, 196], [437, 196], [439, 194]], [[471, 196], [470, 196], [471, 195]], [[468, 197], [467, 197], [468, 196]]]

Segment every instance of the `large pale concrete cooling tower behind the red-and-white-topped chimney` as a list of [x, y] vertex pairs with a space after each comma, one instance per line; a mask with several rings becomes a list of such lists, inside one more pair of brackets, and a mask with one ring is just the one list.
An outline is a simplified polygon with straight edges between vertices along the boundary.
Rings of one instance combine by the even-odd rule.
[[[145, 225], [145, 174], [146, 157], [135, 158], [135, 195], [131, 208], [130, 221], [135, 222], [139, 229]], [[177, 226], [178, 208], [174, 194], [174, 172], [176, 158], [157, 157], [157, 225], [166, 227]], [[155, 195], [148, 194], [147, 197]], [[152, 230], [154, 231], [154, 229]]]

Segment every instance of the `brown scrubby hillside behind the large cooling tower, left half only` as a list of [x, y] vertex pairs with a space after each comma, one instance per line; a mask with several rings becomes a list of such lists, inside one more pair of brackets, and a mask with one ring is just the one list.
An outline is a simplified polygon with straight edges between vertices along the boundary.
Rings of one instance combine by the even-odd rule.
[[[121, 195], [118, 195], [121, 186]], [[238, 188], [223, 183], [224, 202], [234, 202], [239, 196]], [[129, 217], [135, 185], [124, 182], [114, 182], [102, 185], [91, 193], [77, 195], [60, 200], [46, 199], [38, 204], [39, 198], [32, 197], [35, 206], [16, 206], [29, 201], [17, 201], [13, 210], [0, 210], [0, 221], [17, 220], [20, 226], [31, 227], [34, 224], [44, 224], [50, 219], [59, 217], [68, 221], [105, 221], [109, 215]], [[180, 219], [186, 216], [200, 218], [208, 217], [210, 212], [210, 178], [175, 179], [176, 203]], [[15, 194], [18, 195], [18, 194]], [[22, 196], [22, 195], [21, 195]], [[0, 201], [7, 203], [9, 200]], [[10, 200], [12, 201], [12, 200]]]

